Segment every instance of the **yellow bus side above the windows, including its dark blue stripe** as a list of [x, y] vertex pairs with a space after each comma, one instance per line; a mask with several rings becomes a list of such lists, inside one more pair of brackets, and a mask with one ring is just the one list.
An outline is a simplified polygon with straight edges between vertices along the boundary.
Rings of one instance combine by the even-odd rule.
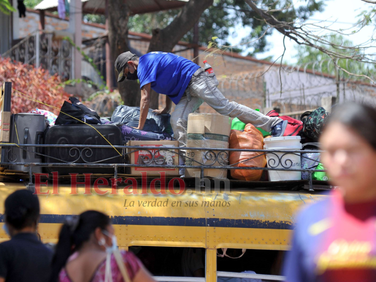
[[[0, 182], [0, 203], [24, 188], [22, 183]], [[42, 191], [48, 189], [52, 193], [52, 187]], [[107, 194], [95, 194], [94, 189], [90, 190], [92, 194], [84, 194], [82, 187], [74, 195], [70, 187], [60, 185], [58, 195], [39, 195], [42, 218], [38, 230], [43, 242], [57, 242], [64, 215], [98, 210], [112, 217], [120, 247], [288, 249], [294, 213], [325, 198], [321, 194], [277, 191], [125, 195], [122, 190], [118, 194], [110, 194], [110, 188], [101, 190]], [[0, 241], [8, 239], [2, 229], [0, 236]]]

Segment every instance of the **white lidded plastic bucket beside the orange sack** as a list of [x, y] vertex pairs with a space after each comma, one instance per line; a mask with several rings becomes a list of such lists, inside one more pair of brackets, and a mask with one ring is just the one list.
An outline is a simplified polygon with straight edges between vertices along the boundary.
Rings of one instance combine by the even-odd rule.
[[[265, 150], [283, 150], [283, 151], [298, 151], [302, 149], [300, 136], [285, 136], [285, 137], [270, 137], [264, 139]], [[267, 154], [267, 165], [269, 168], [301, 168], [300, 153], [286, 154], [277, 152]], [[278, 157], [277, 157], [278, 156]], [[281, 161], [280, 161], [281, 160]], [[277, 171], [269, 170], [269, 181], [284, 181], [284, 180], [301, 180], [302, 173], [300, 171]]]

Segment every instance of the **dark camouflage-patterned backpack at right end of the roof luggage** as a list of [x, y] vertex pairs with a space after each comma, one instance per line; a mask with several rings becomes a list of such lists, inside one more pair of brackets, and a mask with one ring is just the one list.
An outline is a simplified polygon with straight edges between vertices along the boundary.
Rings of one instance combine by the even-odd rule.
[[328, 117], [329, 113], [323, 107], [318, 107], [312, 112], [305, 112], [300, 117], [303, 122], [302, 134], [311, 141], [317, 142]]

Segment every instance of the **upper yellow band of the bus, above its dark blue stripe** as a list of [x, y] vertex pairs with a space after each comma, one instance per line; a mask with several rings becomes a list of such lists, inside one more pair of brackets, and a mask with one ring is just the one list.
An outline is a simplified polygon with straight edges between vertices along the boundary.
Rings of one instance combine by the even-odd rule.
[[[16, 189], [23, 189], [23, 184], [0, 183], [0, 203]], [[49, 188], [52, 192], [52, 187]], [[98, 195], [84, 194], [84, 188], [78, 188], [77, 195], [70, 194], [71, 188], [60, 185], [59, 195], [39, 195], [41, 214], [79, 214], [95, 209], [115, 216], [139, 217], [186, 217], [218, 219], [250, 219], [261, 222], [293, 223], [294, 212], [304, 204], [319, 201], [324, 195], [297, 192], [232, 192], [231, 194], [180, 194], [170, 192], [165, 195], [119, 194]], [[47, 191], [44, 188], [42, 191]], [[150, 193], [150, 191], [148, 190]], [[126, 200], [126, 202], [125, 202]], [[173, 206], [174, 203], [174, 206]], [[155, 207], [154, 205], [162, 205]], [[165, 206], [163, 206], [163, 204]], [[225, 205], [225, 206], [223, 206]], [[0, 213], [3, 206], [0, 205]], [[129, 223], [131, 224], [131, 222]]]

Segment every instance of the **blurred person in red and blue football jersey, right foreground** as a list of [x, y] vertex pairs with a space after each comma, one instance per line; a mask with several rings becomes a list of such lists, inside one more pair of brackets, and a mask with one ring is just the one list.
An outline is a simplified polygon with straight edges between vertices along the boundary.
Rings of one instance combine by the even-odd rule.
[[337, 106], [321, 137], [330, 197], [298, 215], [288, 282], [376, 281], [376, 109]]

